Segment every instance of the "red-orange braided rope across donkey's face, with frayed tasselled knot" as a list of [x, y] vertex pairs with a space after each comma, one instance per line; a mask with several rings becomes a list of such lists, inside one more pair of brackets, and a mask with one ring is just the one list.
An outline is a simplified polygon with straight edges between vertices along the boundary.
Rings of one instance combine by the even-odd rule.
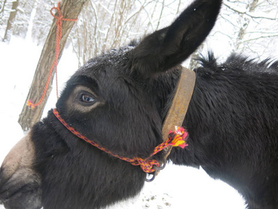
[[156, 171], [156, 169], [154, 167], [160, 167], [160, 164], [157, 160], [149, 159], [150, 157], [156, 155], [156, 153], [160, 152], [161, 150], [163, 150], [167, 146], [179, 146], [181, 148], [185, 148], [186, 146], [188, 146], [188, 144], [186, 144], [186, 141], [185, 141], [186, 137], [188, 136], [188, 132], [186, 132], [183, 129], [183, 127], [176, 127], [176, 130], [174, 132], [170, 131], [169, 137], [166, 141], [164, 141], [163, 143], [156, 146], [156, 148], [154, 148], [154, 152], [149, 157], [147, 157], [145, 159], [142, 159], [140, 157], [133, 157], [133, 158], [122, 157], [120, 155], [113, 154], [110, 150], [107, 150], [103, 146], [100, 146], [99, 144], [95, 143], [95, 141], [92, 141], [92, 140], [88, 139], [87, 137], [84, 137], [81, 133], [74, 130], [73, 127], [68, 125], [63, 120], [63, 118], [60, 117], [57, 109], [54, 109], [53, 113], [56, 116], [56, 118], [58, 118], [58, 120], [63, 125], [65, 125], [65, 127], [67, 127], [68, 130], [70, 130], [70, 132], [72, 132], [74, 135], [76, 135], [76, 137], [79, 137], [80, 139], [83, 139], [84, 141], [92, 144], [92, 146], [95, 146], [96, 148], [99, 148], [100, 150], [103, 150], [104, 152], [106, 152], [110, 155], [113, 155], [114, 157], [117, 157], [117, 158], [119, 158], [121, 160], [124, 160], [126, 162], [130, 162], [134, 166], [140, 165], [141, 169], [146, 173], [152, 173], [152, 172]]

